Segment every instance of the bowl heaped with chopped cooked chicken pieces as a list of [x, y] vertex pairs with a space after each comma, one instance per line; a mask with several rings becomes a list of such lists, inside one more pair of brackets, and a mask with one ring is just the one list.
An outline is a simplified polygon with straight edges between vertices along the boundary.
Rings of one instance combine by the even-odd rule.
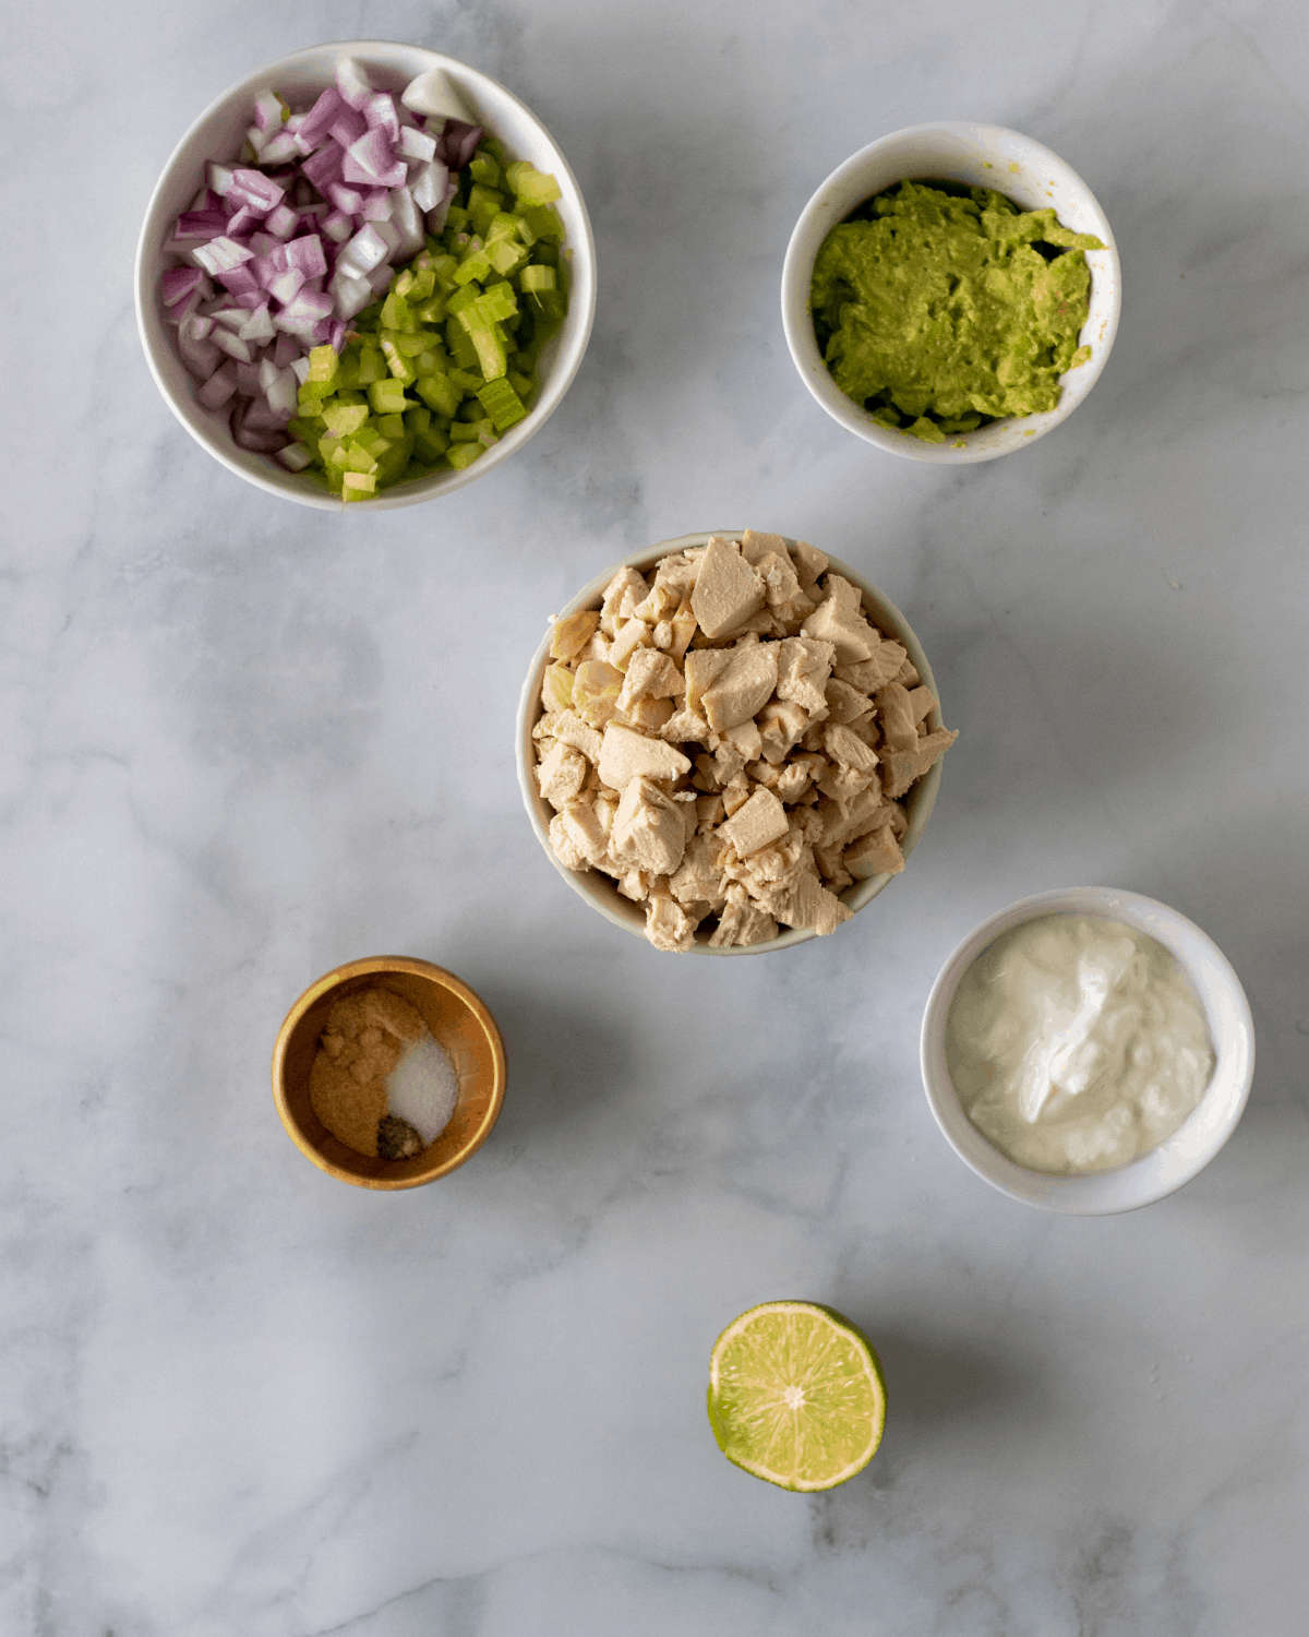
[[936, 683], [905, 617], [779, 534], [687, 534], [551, 620], [519, 782], [542, 846], [656, 949], [825, 936], [905, 868], [936, 800]]

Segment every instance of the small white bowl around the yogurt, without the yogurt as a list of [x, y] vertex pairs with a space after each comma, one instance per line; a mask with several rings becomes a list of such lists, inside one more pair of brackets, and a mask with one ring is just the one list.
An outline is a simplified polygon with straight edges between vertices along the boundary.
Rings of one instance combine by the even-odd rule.
[[[946, 1018], [954, 990], [982, 951], [1001, 933], [1039, 915], [1100, 915], [1157, 938], [1194, 985], [1214, 1043], [1214, 1077], [1190, 1118], [1170, 1138], [1114, 1170], [1085, 1175], [1046, 1175], [1014, 1166], [969, 1121], [946, 1067]], [[1011, 1200], [1070, 1216], [1108, 1216], [1152, 1205], [1204, 1170], [1227, 1138], [1250, 1095], [1255, 1076], [1255, 1028], [1240, 979], [1206, 933], [1139, 892], [1113, 887], [1067, 887], [1019, 899], [982, 922], [941, 967], [923, 1013], [923, 1087], [936, 1123], [965, 1166]]]

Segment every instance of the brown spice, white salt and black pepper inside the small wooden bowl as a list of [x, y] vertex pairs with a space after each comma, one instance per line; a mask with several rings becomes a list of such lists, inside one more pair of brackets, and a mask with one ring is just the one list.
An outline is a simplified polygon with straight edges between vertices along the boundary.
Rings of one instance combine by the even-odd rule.
[[337, 1000], [309, 1069], [314, 1113], [357, 1154], [411, 1159], [435, 1143], [458, 1077], [416, 1007], [381, 984]]

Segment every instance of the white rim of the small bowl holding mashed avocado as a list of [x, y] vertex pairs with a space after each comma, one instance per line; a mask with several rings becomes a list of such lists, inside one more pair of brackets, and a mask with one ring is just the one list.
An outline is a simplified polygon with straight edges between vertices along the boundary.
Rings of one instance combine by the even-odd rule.
[[[810, 278], [818, 247], [826, 237], [830, 228], [841, 221], [852, 208], [852, 205], [848, 205], [838, 214], [830, 205], [828, 195], [841, 193], [851, 180], [857, 178], [875, 160], [888, 154], [888, 151], [892, 151], [897, 144], [905, 144], [910, 139], [928, 142], [933, 138], [941, 142], [952, 144], [954, 152], [957, 152], [960, 144], [974, 144], [978, 152], [995, 152], [1005, 159], [1010, 159], [1011, 154], [1021, 154], [1029, 165], [1039, 162], [1034, 169], [1041, 169], [1042, 172], [1046, 167], [1052, 167], [1052, 185], [1055, 185], [1055, 178], [1059, 178], [1059, 185], [1078, 195], [1080, 211], [1086, 218], [1082, 224], [1083, 231], [1095, 232], [1104, 244], [1104, 250], [1085, 252], [1091, 268], [1091, 313], [1088, 314], [1086, 326], [1078, 339], [1091, 344], [1091, 357], [1077, 370], [1068, 370], [1064, 377], [1060, 377], [1064, 391], [1059, 404], [1041, 414], [1010, 416], [1003, 421], [993, 421], [990, 426], [978, 427], [975, 432], [959, 434], [944, 444], [924, 444], [921, 439], [906, 437], [903, 432], [893, 432], [888, 427], [882, 427], [866, 409], [846, 398], [846, 395], [831, 380], [821, 354], [818, 352], [808, 306]], [[1011, 160], [1011, 164], [1014, 162], [1016, 160]], [[949, 170], [946, 170], [946, 175], [949, 175]], [[965, 178], [960, 177], [957, 180]], [[870, 193], [864, 193], [862, 196], [869, 198], [882, 187], [890, 187], [890, 182], [874, 185]], [[1003, 193], [1005, 188], [998, 187], [996, 192]], [[857, 203], [857, 200], [854, 203]], [[828, 216], [831, 216], [830, 223], [825, 221]], [[821, 234], [818, 234], [816, 229], [820, 221], [823, 221]], [[812, 244], [810, 239], [813, 239]], [[1104, 293], [1108, 306], [1103, 318], [1096, 318], [1095, 313], [1098, 291]], [[856, 437], [861, 437], [869, 444], [875, 444], [888, 453], [938, 465], [972, 465], [980, 460], [996, 460], [1000, 455], [1010, 455], [1016, 453], [1019, 449], [1026, 449], [1047, 432], [1052, 432], [1057, 426], [1062, 426], [1062, 422], [1068, 419], [1080, 403], [1083, 403], [1090, 390], [1100, 380], [1100, 375], [1109, 360], [1114, 337], [1118, 336], [1121, 308], [1122, 268], [1114, 234], [1100, 201], [1083, 178], [1073, 170], [1072, 165], [1067, 164], [1067, 160], [1060, 159], [1059, 154], [1046, 147], [1044, 142], [1037, 142], [1036, 138], [1014, 131], [1010, 126], [983, 124], [965, 120], [910, 124], [903, 129], [890, 131], [885, 136], [877, 138], [877, 141], [869, 142], [856, 154], [851, 154], [849, 159], [844, 159], [823, 180], [807, 201], [805, 208], [800, 211], [782, 264], [782, 329], [785, 332], [792, 362], [795, 363], [800, 380], [805, 383], [813, 398], [833, 417], [833, 421], [841, 424], [848, 432], [854, 432]], [[1093, 336], [1091, 331], [1096, 324], [1100, 324], [1100, 332]]]

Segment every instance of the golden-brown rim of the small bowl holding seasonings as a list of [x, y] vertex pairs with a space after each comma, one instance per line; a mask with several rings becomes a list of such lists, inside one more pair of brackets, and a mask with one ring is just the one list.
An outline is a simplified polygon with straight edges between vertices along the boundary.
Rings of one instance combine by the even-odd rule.
[[[481, 1025], [486, 1041], [491, 1048], [491, 1059], [494, 1064], [494, 1079], [491, 1085], [491, 1098], [486, 1105], [486, 1112], [463, 1144], [453, 1156], [450, 1156], [442, 1164], [432, 1164], [425, 1170], [416, 1174], [406, 1174], [403, 1177], [365, 1177], [345, 1166], [339, 1166], [335, 1161], [327, 1159], [327, 1156], [309, 1141], [299, 1121], [291, 1113], [286, 1098], [286, 1051], [291, 1043], [291, 1035], [298, 1028], [304, 1013], [322, 1000], [326, 995], [332, 994], [342, 984], [355, 977], [386, 977], [393, 972], [404, 972], [409, 977], [422, 977], [429, 982], [437, 984], [440, 989], [447, 989], [452, 995], [463, 1002], [463, 1005], [473, 1013], [473, 1017]], [[362, 961], [345, 961], [342, 966], [334, 966], [331, 972], [324, 972], [322, 977], [314, 979], [313, 984], [299, 995], [299, 999], [286, 1012], [281, 1021], [281, 1028], [277, 1031], [277, 1043], [273, 1044], [273, 1102], [277, 1103], [278, 1116], [286, 1128], [286, 1134], [296, 1144], [296, 1148], [311, 1159], [319, 1170], [326, 1170], [329, 1177], [335, 1177], [337, 1182], [349, 1182], [355, 1188], [375, 1188], [376, 1192], [393, 1193], [401, 1188], [421, 1188], [429, 1182], [435, 1182], [439, 1177], [448, 1175], [452, 1170], [458, 1170], [460, 1166], [466, 1164], [483, 1143], [491, 1134], [491, 1128], [501, 1116], [501, 1107], [504, 1105], [504, 1087], [507, 1080], [507, 1064], [504, 1056], [504, 1039], [501, 1038], [499, 1026], [491, 1017], [481, 995], [468, 987], [463, 979], [455, 977], [453, 972], [447, 971], [443, 966], [435, 966], [432, 961], [421, 961], [407, 954], [373, 954]]]

